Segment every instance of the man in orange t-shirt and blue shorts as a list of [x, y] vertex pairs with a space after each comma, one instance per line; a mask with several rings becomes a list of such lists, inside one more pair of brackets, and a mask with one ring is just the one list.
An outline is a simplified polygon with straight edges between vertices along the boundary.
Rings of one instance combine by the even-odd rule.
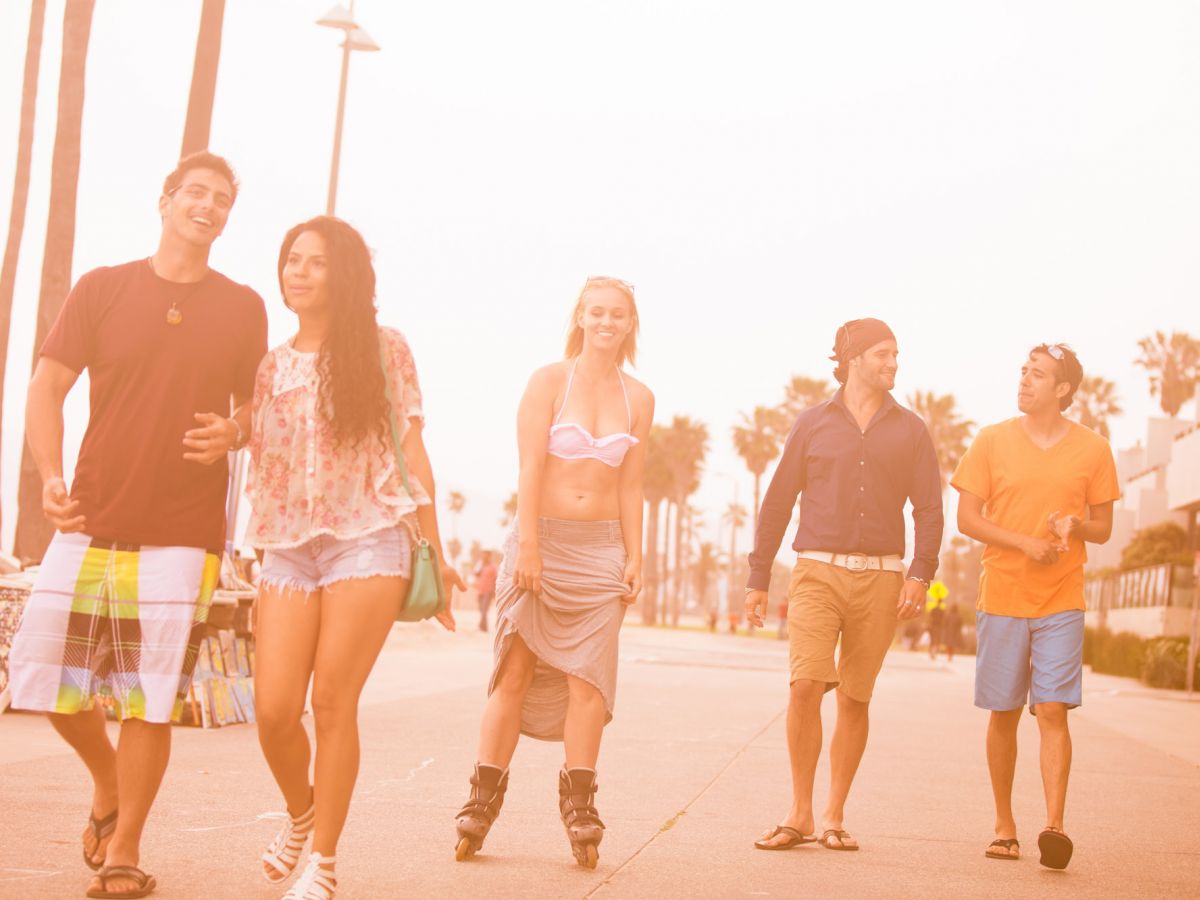
[[1042, 864], [1064, 869], [1070, 732], [1082, 702], [1084, 544], [1104, 544], [1120, 497], [1109, 443], [1063, 416], [1084, 371], [1070, 348], [1040, 344], [1021, 367], [1022, 415], [979, 431], [950, 484], [959, 530], [986, 544], [976, 612], [976, 706], [991, 710], [988, 768], [996, 800], [992, 859], [1016, 859], [1016, 726], [1026, 702], [1042, 734], [1046, 827]]

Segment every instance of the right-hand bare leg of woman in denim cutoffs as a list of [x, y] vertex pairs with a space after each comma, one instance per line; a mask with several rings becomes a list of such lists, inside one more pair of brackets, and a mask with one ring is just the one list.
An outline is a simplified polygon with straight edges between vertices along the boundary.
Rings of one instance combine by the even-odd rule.
[[320, 634], [313, 666], [317, 726], [312, 848], [337, 853], [359, 775], [359, 695], [396, 620], [408, 581], [391, 576], [337, 582], [322, 592]]

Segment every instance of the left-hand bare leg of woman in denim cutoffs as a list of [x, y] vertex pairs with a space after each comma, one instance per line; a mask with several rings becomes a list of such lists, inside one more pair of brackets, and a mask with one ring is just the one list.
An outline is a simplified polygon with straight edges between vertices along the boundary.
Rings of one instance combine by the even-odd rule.
[[[320, 629], [320, 594], [264, 584], [254, 606], [254, 710], [258, 744], [292, 818], [312, 804], [312, 750], [304, 728], [305, 698]], [[263, 871], [278, 877], [274, 866]]]

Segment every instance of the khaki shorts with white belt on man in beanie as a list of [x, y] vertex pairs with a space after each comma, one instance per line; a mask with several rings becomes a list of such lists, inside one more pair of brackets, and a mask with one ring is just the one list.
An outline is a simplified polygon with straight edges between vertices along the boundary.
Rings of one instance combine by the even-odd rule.
[[840, 688], [851, 700], [869, 701], [895, 635], [902, 586], [902, 572], [852, 572], [797, 559], [787, 588], [788, 683], [824, 682], [826, 690]]

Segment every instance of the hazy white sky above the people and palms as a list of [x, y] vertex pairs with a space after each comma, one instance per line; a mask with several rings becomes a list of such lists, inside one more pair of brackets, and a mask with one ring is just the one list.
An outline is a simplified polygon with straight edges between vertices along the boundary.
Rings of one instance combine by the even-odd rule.
[[[242, 194], [212, 264], [253, 286], [271, 343], [284, 230], [324, 210], [341, 52], [329, 0], [228, 0], [211, 146]], [[152, 252], [179, 155], [199, 0], [102, 0], [88, 66], [74, 275]], [[700, 502], [750, 476], [739, 410], [824, 377], [836, 326], [880, 316], [896, 394], [1015, 412], [1025, 352], [1073, 343], [1140, 437], [1136, 338], [1200, 332], [1200, 7], [1192, 2], [359, 0], [338, 214], [376, 248], [407, 332], [439, 490], [497, 542], [516, 403], [562, 353], [584, 276], [637, 286], [636, 374], [659, 419], [708, 422]], [[0, 4], [7, 222], [29, 2]], [[59, 74], [49, 0], [5, 391], [11, 546]], [[68, 406], [68, 458], [85, 397]], [[734, 478], [718, 476], [727, 473]], [[744, 548], [748, 535], [742, 538]]]

